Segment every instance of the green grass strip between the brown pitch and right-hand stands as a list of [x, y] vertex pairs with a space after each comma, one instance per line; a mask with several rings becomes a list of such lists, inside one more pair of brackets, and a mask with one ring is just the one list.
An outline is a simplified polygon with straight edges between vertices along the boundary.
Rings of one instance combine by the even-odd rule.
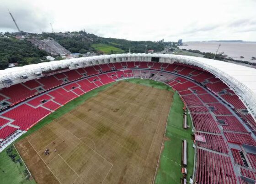
[[187, 116], [187, 123], [190, 128], [185, 131], [182, 128], [184, 107], [178, 93], [175, 92], [169, 113], [167, 128], [165, 132], [166, 141], [160, 156], [160, 166], [155, 178], [155, 184], [178, 184], [182, 178], [181, 173], [181, 152], [182, 140], [187, 140], [187, 181], [193, 175], [194, 148], [192, 134], [192, 121]]

